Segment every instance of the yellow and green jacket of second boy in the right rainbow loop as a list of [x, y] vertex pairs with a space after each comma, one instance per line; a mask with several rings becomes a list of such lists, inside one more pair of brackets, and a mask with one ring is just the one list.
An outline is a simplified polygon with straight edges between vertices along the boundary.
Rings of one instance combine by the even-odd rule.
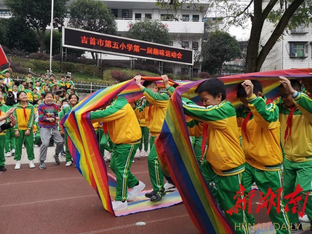
[[283, 156], [280, 147], [279, 109], [267, 98], [253, 95], [247, 98], [249, 105], [236, 111], [237, 125], [242, 127], [243, 121], [252, 112], [246, 125], [246, 134], [242, 134], [242, 148], [246, 162], [262, 171], [278, 171], [282, 167]]

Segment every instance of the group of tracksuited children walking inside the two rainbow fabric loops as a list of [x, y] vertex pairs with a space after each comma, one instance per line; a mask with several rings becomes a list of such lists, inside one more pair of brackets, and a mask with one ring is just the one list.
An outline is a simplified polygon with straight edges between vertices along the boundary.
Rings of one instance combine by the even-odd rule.
[[[175, 88], [169, 85], [167, 76], [162, 76], [162, 79], [168, 94], [159, 94], [155, 81], [141, 84], [140, 76], [134, 79], [144, 95], [139, 107], [117, 97], [106, 108], [90, 115], [94, 122], [107, 123], [107, 132], [114, 144], [111, 168], [117, 178], [117, 196], [113, 202], [115, 211], [127, 209], [127, 201], [145, 187], [130, 170], [134, 152], [144, 139], [144, 129], [140, 129], [137, 119], [140, 123], [143, 120], [141, 127], [147, 127], [151, 133], [148, 169], [153, 191], [145, 196], [151, 201], [159, 201], [166, 195], [154, 140], [161, 131], [169, 96]], [[241, 185], [245, 191], [239, 194], [240, 199], [251, 191], [254, 183], [263, 194], [270, 189], [275, 192], [283, 188], [280, 200], [277, 195], [272, 198], [276, 206], [272, 206], [269, 213], [278, 234], [302, 230], [287, 196], [294, 192], [297, 185], [302, 188], [300, 195], [303, 199], [300, 202], [308, 196], [306, 219], [312, 220], [312, 99], [302, 91], [299, 81], [280, 79], [280, 98], [273, 101], [264, 96], [261, 82], [245, 80], [239, 84], [237, 98], [243, 106], [237, 111], [226, 101], [225, 85], [217, 78], [198, 85], [195, 92], [202, 105], [182, 98], [184, 114], [192, 118], [187, 125], [199, 168], [235, 233], [254, 234], [256, 231], [252, 228], [255, 224], [253, 215], [243, 209], [231, 215], [227, 212], [235, 206], [234, 197], [241, 191]], [[309, 91], [306, 90], [306, 93]], [[205, 149], [203, 145], [207, 147], [206, 160], [200, 158], [202, 149]], [[144, 150], [147, 153], [147, 147]], [[140, 156], [144, 156], [143, 153]], [[172, 184], [166, 185], [167, 191], [168, 188], [175, 189]], [[127, 187], [130, 193], [127, 193]], [[285, 204], [288, 204], [288, 212]]]

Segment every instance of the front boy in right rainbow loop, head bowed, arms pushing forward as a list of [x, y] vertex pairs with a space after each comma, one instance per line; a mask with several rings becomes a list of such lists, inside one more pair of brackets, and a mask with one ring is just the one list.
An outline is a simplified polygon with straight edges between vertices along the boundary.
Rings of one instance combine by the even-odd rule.
[[[195, 90], [203, 106], [182, 98], [184, 114], [208, 124], [209, 142], [206, 161], [199, 167], [207, 184], [215, 181], [212, 191], [224, 211], [235, 206], [234, 196], [240, 191], [242, 173], [245, 170], [245, 156], [240, 147], [236, 112], [234, 106], [225, 100], [224, 83], [217, 78], [202, 82]], [[243, 199], [244, 195], [240, 196]], [[242, 209], [232, 215], [225, 212], [237, 234], [247, 234], [246, 216]]]

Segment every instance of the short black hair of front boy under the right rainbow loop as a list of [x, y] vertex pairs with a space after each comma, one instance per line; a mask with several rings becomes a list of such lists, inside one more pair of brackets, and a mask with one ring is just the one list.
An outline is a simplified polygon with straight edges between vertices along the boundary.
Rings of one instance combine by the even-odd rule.
[[200, 94], [203, 92], [209, 93], [216, 98], [220, 93], [222, 95], [222, 101], [226, 99], [225, 85], [221, 79], [210, 78], [202, 82], [195, 90], [195, 93]]

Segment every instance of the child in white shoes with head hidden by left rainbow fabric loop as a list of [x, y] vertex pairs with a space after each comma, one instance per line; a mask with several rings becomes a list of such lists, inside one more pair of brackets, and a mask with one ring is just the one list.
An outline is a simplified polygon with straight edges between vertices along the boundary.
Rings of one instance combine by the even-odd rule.
[[[110, 166], [116, 175], [117, 186], [112, 205], [114, 211], [127, 209], [127, 200], [134, 199], [145, 188], [130, 171], [142, 137], [136, 114], [125, 98], [117, 97], [106, 109], [91, 112], [90, 119], [107, 123], [107, 132], [115, 144]], [[131, 189], [129, 194], [127, 187]]]

